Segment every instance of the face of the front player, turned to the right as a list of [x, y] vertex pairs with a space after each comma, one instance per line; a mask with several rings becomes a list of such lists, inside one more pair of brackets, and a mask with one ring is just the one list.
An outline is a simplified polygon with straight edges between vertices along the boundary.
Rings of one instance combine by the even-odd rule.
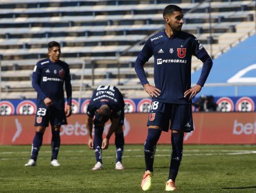
[[165, 17], [165, 21], [173, 32], [179, 32], [183, 26], [183, 13], [172, 12], [172, 14]]

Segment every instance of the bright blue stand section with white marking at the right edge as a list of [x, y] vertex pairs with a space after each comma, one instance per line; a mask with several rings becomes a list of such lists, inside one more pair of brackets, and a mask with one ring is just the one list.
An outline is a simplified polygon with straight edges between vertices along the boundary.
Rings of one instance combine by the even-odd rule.
[[[256, 88], [256, 34], [221, 54], [214, 62], [214, 70], [208, 77], [211, 87], [203, 88], [201, 94], [208, 96], [255, 96]], [[221, 75], [220, 75], [221, 72]], [[195, 72], [192, 81], [200, 74]], [[216, 87], [221, 83], [222, 87]], [[223, 83], [226, 83], [225, 85]]]

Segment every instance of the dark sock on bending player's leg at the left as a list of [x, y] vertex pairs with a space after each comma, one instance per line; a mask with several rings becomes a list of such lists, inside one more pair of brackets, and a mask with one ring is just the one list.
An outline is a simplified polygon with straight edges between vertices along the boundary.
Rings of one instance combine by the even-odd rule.
[[95, 128], [94, 130], [94, 152], [96, 157], [96, 162], [100, 161], [102, 163], [102, 134], [103, 134], [103, 128]]

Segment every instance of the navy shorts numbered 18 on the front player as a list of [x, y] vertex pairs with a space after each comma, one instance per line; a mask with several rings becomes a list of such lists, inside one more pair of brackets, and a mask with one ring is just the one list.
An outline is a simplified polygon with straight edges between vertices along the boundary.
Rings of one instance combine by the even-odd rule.
[[152, 101], [147, 126], [156, 125], [163, 131], [191, 132], [193, 128], [192, 105]]

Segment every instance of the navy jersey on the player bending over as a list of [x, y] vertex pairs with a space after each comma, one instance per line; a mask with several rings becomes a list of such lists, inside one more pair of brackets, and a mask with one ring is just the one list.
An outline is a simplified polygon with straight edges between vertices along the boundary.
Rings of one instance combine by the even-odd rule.
[[112, 110], [111, 116], [123, 116], [125, 102], [121, 92], [113, 85], [100, 85], [94, 90], [87, 108], [87, 115], [94, 116], [101, 105], [108, 105]]

